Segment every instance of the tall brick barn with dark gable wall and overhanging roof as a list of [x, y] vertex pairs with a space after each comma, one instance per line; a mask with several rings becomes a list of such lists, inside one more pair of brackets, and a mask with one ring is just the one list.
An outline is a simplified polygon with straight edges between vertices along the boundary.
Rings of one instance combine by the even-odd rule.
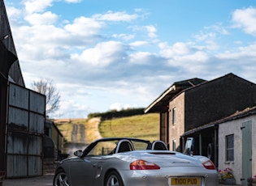
[[160, 114], [160, 139], [170, 150], [183, 151], [187, 137], [193, 137], [193, 153], [208, 156], [217, 165], [219, 125], [215, 121], [255, 105], [256, 85], [227, 74], [210, 81], [175, 82], [145, 113]]

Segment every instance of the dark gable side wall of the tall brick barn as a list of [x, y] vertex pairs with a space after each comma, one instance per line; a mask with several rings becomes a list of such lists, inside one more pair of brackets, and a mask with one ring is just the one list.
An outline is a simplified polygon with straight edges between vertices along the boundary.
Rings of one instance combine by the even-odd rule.
[[256, 84], [228, 74], [189, 89], [185, 95], [185, 131], [254, 107]]

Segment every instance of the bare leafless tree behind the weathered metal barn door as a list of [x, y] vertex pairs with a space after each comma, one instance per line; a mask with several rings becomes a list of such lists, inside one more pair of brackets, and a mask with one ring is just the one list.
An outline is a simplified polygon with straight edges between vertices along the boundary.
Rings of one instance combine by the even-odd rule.
[[59, 91], [51, 79], [40, 79], [38, 82], [32, 82], [32, 89], [46, 95], [46, 116], [54, 113], [59, 109], [60, 95]]

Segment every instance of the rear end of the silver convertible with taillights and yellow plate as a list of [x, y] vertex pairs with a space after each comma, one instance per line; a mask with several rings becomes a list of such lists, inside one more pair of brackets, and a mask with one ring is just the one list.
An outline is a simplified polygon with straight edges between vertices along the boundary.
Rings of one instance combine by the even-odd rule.
[[[193, 158], [170, 151], [148, 151], [137, 154], [130, 170], [120, 170], [124, 185], [215, 186], [218, 173], [205, 157]], [[140, 158], [140, 159], [139, 159]]]

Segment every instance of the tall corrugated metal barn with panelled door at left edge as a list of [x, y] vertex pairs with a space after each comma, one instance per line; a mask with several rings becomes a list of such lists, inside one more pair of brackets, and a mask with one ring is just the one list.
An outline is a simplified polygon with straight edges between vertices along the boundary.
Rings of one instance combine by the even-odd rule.
[[24, 85], [7, 12], [0, 0], [0, 171], [42, 175], [46, 97]]

